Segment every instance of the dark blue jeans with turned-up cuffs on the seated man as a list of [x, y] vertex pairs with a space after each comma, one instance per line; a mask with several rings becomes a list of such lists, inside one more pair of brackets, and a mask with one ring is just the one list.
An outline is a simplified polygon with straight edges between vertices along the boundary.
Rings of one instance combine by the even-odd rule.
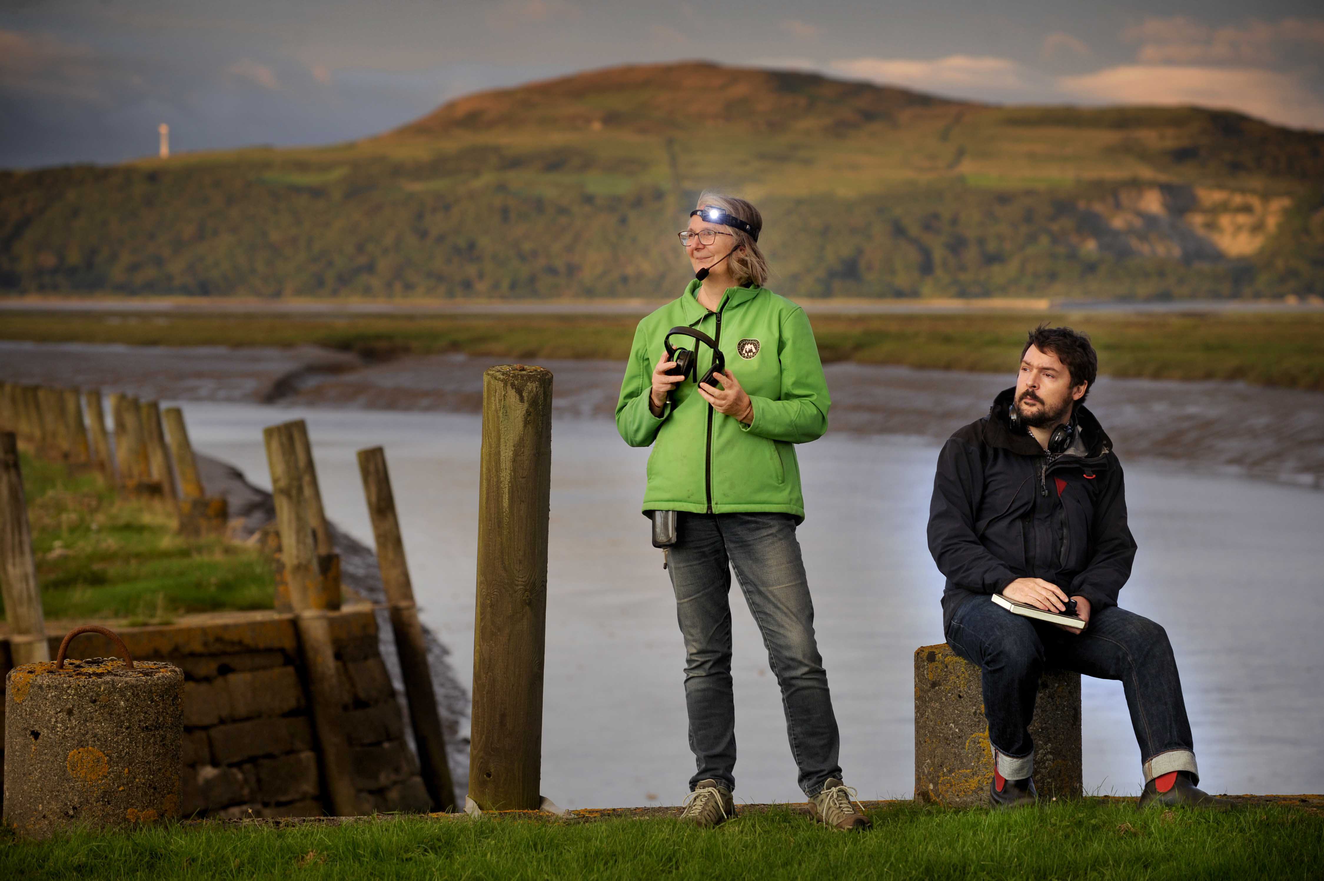
[[984, 670], [984, 714], [1004, 776], [1021, 779], [1034, 768], [1027, 727], [1039, 673], [1051, 666], [1121, 681], [1147, 782], [1169, 771], [1200, 779], [1172, 644], [1149, 619], [1110, 605], [1074, 635], [974, 596], [952, 616], [947, 644]]

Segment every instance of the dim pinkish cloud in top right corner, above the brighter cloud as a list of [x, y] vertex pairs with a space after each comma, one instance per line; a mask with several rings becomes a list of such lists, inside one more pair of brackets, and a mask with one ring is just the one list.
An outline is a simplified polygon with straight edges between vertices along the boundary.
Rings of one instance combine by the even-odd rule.
[[1250, 20], [1245, 25], [1211, 28], [1185, 16], [1145, 19], [1121, 38], [1139, 42], [1141, 64], [1237, 64], [1274, 66], [1284, 48], [1324, 46], [1324, 19]]

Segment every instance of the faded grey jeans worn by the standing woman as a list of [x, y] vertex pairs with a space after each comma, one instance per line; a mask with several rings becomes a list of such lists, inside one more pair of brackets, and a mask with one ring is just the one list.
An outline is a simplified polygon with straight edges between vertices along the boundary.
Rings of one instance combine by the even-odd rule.
[[685, 705], [700, 780], [735, 788], [736, 713], [731, 690], [731, 570], [763, 633], [781, 686], [800, 788], [817, 795], [841, 778], [828, 673], [814, 641], [814, 607], [790, 514], [677, 515], [670, 551], [677, 620], [685, 637]]

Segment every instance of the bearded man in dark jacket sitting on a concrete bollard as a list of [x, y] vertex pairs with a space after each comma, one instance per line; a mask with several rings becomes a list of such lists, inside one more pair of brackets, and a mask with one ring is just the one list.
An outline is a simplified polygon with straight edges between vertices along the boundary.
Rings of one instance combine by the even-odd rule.
[[[928, 547], [947, 576], [947, 643], [984, 670], [994, 807], [1031, 804], [1029, 725], [1045, 665], [1121, 680], [1140, 742], [1147, 804], [1227, 807], [1196, 788], [1200, 772], [1168, 633], [1117, 607], [1136, 542], [1127, 527], [1121, 465], [1084, 408], [1098, 356], [1083, 334], [1038, 327], [1016, 388], [943, 446]], [[1016, 615], [990, 600], [1062, 612], [1074, 599], [1083, 631]]]

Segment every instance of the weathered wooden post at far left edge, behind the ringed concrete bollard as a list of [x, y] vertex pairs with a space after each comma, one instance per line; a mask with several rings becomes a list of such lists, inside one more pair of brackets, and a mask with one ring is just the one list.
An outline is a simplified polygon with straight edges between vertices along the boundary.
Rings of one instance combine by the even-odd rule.
[[0, 433], [0, 588], [4, 590], [4, 613], [9, 623], [15, 665], [49, 661], [37, 566], [32, 559], [28, 501], [19, 466], [19, 441], [13, 432]]

